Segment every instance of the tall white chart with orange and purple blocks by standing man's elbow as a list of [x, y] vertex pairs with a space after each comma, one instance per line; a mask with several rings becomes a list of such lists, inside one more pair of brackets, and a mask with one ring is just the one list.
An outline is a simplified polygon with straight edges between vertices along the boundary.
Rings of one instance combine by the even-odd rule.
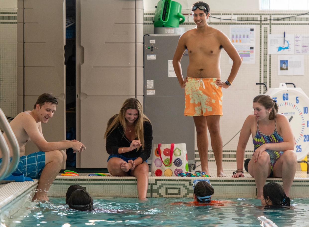
[[255, 28], [255, 25], [230, 25], [230, 40], [244, 64], [255, 64]]

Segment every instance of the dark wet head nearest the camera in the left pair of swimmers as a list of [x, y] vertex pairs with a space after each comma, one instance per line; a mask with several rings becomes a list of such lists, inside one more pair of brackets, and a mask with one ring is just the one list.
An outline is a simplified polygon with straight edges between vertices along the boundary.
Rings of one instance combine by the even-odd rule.
[[72, 192], [68, 205], [71, 209], [92, 211], [93, 210], [93, 199], [84, 189], [77, 189]]

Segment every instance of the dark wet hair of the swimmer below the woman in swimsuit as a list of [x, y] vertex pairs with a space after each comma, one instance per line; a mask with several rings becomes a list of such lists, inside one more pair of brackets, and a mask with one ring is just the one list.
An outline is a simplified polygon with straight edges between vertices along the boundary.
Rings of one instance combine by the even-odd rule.
[[290, 206], [291, 200], [286, 196], [283, 187], [275, 182], [269, 182], [263, 187], [263, 196], [267, 205], [268, 198], [274, 206]]

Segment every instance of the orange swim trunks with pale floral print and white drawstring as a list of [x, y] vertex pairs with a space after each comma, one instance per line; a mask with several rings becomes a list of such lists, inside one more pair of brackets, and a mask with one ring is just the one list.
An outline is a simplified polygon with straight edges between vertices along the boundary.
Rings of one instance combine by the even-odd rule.
[[216, 79], [188, 77], [184, 88], [184, 116], [222, 116], [222, 91]]

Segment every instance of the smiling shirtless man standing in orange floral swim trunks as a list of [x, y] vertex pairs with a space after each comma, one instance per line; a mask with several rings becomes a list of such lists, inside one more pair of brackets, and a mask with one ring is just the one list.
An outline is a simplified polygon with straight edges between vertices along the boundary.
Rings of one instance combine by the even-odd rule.
[[[207, 24], [210, 8], [205, 2], [196, 2], [191, 8], [195, 28], [180, 36], [173, 58], [173, 66], [180, 83], [185, 88], [185, 116], [193, 116], [197, 131], [197, 148], [201, 159], [202, 171], [208, 170], [208, 138], [217, 164], [217, 176], [224, 176], [222, 168], [222, 138], [219, 120], [222, 116], [221, 88], [230, 87], [241, 65], [241, 58], [229, 40], [220, 30]], [[220, 79], [221, 49], [233, 60], [231, 73], [226, 82]], [[188, 49], [188, 77], [183, 78], [180, 60]]]

